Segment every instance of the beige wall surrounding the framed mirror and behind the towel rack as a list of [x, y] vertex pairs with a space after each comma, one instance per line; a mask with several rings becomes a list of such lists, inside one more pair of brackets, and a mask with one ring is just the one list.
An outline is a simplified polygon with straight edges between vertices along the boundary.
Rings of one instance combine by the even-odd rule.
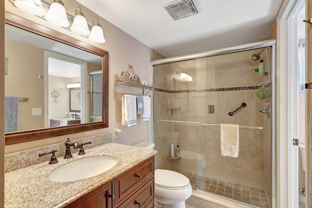
[[[74, 15], [76, 6], [80, 5], [75, 0], [63, 0], [64, 5], [66, 7], [67, 13]], [[92, 11], [88, 10], [84, 6], [82, 7], [82, 11], [86, 16], [88, 23], [92, 24], [93, 17], [97, 16]], [[149, 71], [147, 71], [147, 61], [152, 59], [149, 57], [150, 55], [155, 54], [155, 52], [151, 52], [151, 49], [148, 48], [143, 43], [137, 41], [130, 35], [126, 34], [113, 24], [105, 21], [104, 19], [99, 17], [99, 22], [102, 25], [104, 30], [104, 36], [106, 39], [105, 43], [93, 43], [88, 39], [73, 34], [71, 31], [54, 26], [49, 22], [42, 20], [38, 17], [28, 15], [16, 7], [12, 5], [9, 0], [5, 0], [5, 10], [27, 18], [31, 21], [38, 22], [40, 24], [44, 24], [52, 29], [55, 29], [59, 32], [72, 36], [78, 40], [83, 42], [95, 45], [99, 48], [102, 48], [109, 52], [109, 127], [105, 129], [98, 129], [94, 131], [82, 132], [71, 135], [64, 135], [56, 138], [48, 138], [34, 142], [27, 142], [23, 144], [16, 144], [5, 146], [5, 153], [16, 152], [24, 149], [30, 149], [39, 146], [51, 145], [59, 142], [64, 142], [66, 137], [70, 137], [71, 139], [78, 139], [87, 136], [98, 135], [106, 132], [112, 132], [114, 127], [120, 127], [122, 132], [119, 134], [119, 138], [113, 140], [116, 143], [121, 144], [136, 144], [140, 141], [147, 140], [147, 128], [148, 124], [146, 122], [142, 122], [138, 120], [137, 125], [131, 128], [125, 127], [121, 125], [121, 102], [114, 100], [114, 77], [115, 74], [120, 75], [121, 71], [126, 71], [128, 65], [133, 65], [134, 72], [141, 78], [147, 79], [149, 83], [151, 83], [150, 77], [148, 77]], [[134, 91], [137, 89], [130, 89], [130, 91]], [[140, 91], [139, 91], [140, 92]]]

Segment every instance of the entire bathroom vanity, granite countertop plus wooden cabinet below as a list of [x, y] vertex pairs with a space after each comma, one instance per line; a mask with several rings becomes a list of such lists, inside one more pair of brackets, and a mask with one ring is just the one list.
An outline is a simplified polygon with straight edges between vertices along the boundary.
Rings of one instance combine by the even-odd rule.
[[[57, 164], [49, 165], [46, 161], [5, 173], [5, 207], [153, 207], [156, 150], [108, 143], [90, 149], [86, 146], [85, 152], [74, 153], [70, 159], [58, 158]], [[103, 155], [117, 158], [117, 164], [81, 180], [49, 180], [49, 174], [60, 166]]]

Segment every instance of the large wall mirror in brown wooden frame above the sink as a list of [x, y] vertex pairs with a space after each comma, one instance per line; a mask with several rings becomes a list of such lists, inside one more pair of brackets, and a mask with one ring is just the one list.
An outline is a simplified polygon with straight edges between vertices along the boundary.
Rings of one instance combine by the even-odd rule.
[[[5, 21], [6, 27], [14, 28], [12, 34], [8, 36], [5, 34], [5, 57], [8, 57], [5, 96], [28, 98], [28, 100], [18, 102], [19, 127], [15, 132], [5, 133], [5, 145], [108, 127], [108, 52], [9, 12], [5, 12]], [[20, 40], [24, 42], [18, 41], [17, 30], [23, 31]], [[7, 31], [10, 29], [6, 28], [5, 32]], [[32, 42], [29, 45], [27, 42], [31, 42], [30, 39], [34, 35], [39, 37], [35, 41], [37, 44]], [[7, 37], [10, 40], [7, 41]], [[10, 44], [7, 42], [13, 42], [15, 47], [9, 47]], [[28, 44], [27, 47], [25, 46], [27, 50], [22, 52], [22, 47], [19, 44], [23, 44], [23, 46]], [[49, 45], [50, 48], [48, 48]], [[20, 51], [13, 50], [16, 48]], [[40, 54], [30, 58], [30, 62], [26, 63], [26, 54], [35, 54], [36, 50], [40, 50]], [[67, 66], [59, 67], [62, 69], [61, 71], [50, 74], [50, 58], [78, 63], [78, 75], [61, 76], [60, 74], [69, 68]], [[93, 93], [90, 85], [94, 71], [97, 71], [99, 77], [99, 87], [96, 93]], [[32, 77], [33, 80], [26, 80], [27, 76]], [[21, 78], [22, 82], [19, 81]], [[81, 83], [78, 89], [69, 90], [66, 87], [67, 83], [78, 79]], [[40, 85], [28, 88], [35, 83]], [[79, 93], [80, 104], [77, 104]], [[98, 110], [96, 112], [93, 109], [95, 104], [90, 103], [95, 99], [93, 94], [97, 94]], [[73, 97], [70, 97], [72, 95]], [[50, 111], [59, 114], [51, 114]], [[30, 114], [31, 116], [27, 117], [29, 112], [33, 112], [33, 114], [35, 112], [35, 114]], [[66, 120], [66, 117], [72, 113], [78, 114], [78, 118], [81, 120], [80, 124], [50, 127], [52, 120]], [[36, 123], [41, 125], [24, 126]]]

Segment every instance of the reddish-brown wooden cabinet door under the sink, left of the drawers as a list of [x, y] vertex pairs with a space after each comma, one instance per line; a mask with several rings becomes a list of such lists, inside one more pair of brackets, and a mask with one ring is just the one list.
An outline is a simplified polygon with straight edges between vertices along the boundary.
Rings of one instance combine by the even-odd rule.
[[114, 180], [80, 197], [65, 208], [114, 208]]

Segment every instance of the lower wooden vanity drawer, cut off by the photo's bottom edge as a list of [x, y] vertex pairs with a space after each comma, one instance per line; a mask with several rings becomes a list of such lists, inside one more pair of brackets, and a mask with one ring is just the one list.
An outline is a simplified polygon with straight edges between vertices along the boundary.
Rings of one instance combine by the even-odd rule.
[[154, 202], [154, 179], [141, 187], [118, 208], [151, 208]]

